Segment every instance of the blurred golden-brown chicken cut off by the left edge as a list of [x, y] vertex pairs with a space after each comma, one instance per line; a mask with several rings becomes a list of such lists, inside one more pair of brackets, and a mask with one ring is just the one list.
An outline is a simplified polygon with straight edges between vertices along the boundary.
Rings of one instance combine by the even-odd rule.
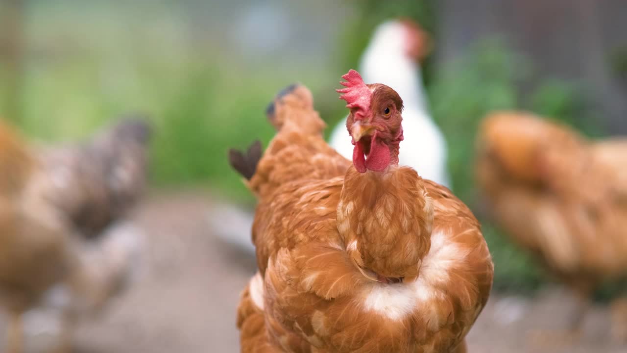
[[65, 280], [75, 264], [70, 225], [48, 202], [43, 166], [0, 125], [0, 305], [8, 313], [9, 353], [23, 350], [22, 314]]

